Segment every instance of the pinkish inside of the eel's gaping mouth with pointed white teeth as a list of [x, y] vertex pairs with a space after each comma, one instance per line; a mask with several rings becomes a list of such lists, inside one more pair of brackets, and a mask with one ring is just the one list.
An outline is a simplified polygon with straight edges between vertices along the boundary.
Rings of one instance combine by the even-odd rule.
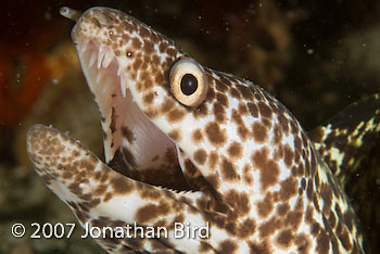
[[123, 175], [154, 186], [189, 190], [176, 143], [140, 110], [131, 79], [111, 47], [77, 39], [77, 52], [101, 114], [105, 162]]

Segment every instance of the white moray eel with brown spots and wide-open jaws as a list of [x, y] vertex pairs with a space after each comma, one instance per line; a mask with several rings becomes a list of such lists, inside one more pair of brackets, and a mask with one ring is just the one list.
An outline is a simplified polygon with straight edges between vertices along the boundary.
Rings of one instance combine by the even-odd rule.
[[[100, 110], [105, 163], [36, 125], [27, 135], [36, 172], [85, 228], [167, 229], [109, 230], [94, 238], [104, 250], [364, 253], [320, 147], [274, 97], [202, 66], [121, 11], [61, 12], [76, 21], [72, 38]], [[315, 144], [328, 135], [316, 130]], [[193, 233], [176, 236], [176, 224]]]

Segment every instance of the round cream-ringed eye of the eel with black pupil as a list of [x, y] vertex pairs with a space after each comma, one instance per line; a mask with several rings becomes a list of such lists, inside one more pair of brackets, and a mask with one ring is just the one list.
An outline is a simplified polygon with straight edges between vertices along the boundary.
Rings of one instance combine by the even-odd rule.
[[192, 59], [182, 59], [170, 69], [170, 91], [183, 105], [195, 107], [206, 98], [208, 89], [203, 67]]

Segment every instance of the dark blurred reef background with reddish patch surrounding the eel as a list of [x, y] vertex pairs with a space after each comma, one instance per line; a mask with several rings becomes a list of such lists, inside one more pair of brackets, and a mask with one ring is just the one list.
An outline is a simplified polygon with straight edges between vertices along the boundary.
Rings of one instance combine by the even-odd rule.
[[[176, 40], [205, 66], [253, 80], [306, 130], [350, 103], [380, 92], [380, 1], [97, 0], [10, 1], [0, 10], [0, 253], [103, 253], [80, 239], [16, 239], [14, 223], [76, 223], [34, 172], [25, 151], [36, 123], [68, 131], [103, 157], [98, 110], [61, 7], [119, 9]], [[380, 253], [380, 142], [346, 187], [373, 253]], [[364, 177], [363, 179], [368, 179]], [[363, 185], [360, 185], [363, 183]], [[367, 202], [369, 201], [369, 202]], [[373, 216], [375, 214], [375, 216]], [[368, 221], [367, 218], [376, 218]]]

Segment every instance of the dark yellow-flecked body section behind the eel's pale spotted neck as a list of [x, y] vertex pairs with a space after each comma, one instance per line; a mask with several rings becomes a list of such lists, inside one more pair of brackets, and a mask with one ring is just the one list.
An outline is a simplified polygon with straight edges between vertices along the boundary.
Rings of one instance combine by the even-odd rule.
[[353, 200], [372, 253], [380, 251], [380, 94], [366, 97], [308, 132]]

